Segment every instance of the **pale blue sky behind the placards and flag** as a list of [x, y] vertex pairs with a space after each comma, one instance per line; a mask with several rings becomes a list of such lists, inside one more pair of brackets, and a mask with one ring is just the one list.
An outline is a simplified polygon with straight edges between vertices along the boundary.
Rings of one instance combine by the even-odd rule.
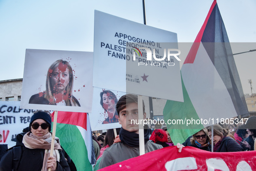
[[[147, 25], [176, 32], [178, 42], [194, 42], [213, 0], [145, 2]], [[217, 3], [230, 42], [256, 42], [256, 1]], [[142, 0], [0, 0], [0, 81], [23, 77], [26, 48], [93, 52], [94, 10], [143, 24]], [[233, 53], [256, 49], [255, 43], [242, 46]], [[248, 79], [256, 89], [256, 52], [234, 58], [250, 94]]]

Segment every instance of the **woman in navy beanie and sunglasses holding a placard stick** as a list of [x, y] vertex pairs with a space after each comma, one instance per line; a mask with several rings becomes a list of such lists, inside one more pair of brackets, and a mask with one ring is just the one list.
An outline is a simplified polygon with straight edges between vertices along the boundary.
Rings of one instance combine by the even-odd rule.
[[[59, 139], [55, 137], [53, 156], [50, 156], [52, 119], [50, 113], [36, 111], [29, 123], [29, 132], [23, 136], [22, 155], [17, 170], [31, 171], [70, 171], [61, 151]], [[0, 170], [13, 170], [13, 149], [0, 161]]]

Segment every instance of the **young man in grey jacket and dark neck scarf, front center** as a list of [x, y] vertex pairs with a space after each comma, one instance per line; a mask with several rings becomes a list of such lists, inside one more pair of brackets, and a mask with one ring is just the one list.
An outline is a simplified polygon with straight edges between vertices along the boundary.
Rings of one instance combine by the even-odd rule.
[[[139, 125], [131, 123], [132, 119], [138, 119], [138, 97], [126, 94], [120, 97], [116, 107], [118, 121], [122, 125], [119, 133], [120, 142], [114, 143], [103, 152], [99, 169], [139, 156]], [[144, 102], [143, 119], [146, 119]], [[162, 145], [149, 142], [149, 135], [150, 129], [146, 126], [146, 129], [144, 127], [145, 153], [162, 148]], [[181, 152], [183, 145], [178, 143], [177, 147]]]

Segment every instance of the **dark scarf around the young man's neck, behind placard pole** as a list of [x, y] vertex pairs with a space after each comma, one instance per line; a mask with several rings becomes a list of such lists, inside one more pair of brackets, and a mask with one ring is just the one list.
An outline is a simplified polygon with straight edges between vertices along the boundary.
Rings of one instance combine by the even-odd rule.
[[[150, 129], [144, 127], [144, 143], [149, 141]], [[129, 132], [121, 127], [119, 132], [119, 138], [123, 144], [130, 147], [139, 147], [139, 134], [135, 132]]]

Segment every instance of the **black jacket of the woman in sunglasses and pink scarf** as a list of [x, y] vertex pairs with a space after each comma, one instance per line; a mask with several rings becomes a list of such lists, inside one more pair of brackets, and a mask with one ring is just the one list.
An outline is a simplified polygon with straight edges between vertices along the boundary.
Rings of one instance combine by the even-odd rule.
[[[16, 145], [22, 147], [22, 155], [18, 164], [18, 171], [41, 171], [45, 149], [29, 149], [22, 143], [23, 136], [16, 136]], [[57, 161], [56, 171], [70, 171], [67, 161], [59, 150], [60, 161]], [[13, 149], [8, 151], [0, 161], [1, 171], [11, 171], [13, 169]]]

